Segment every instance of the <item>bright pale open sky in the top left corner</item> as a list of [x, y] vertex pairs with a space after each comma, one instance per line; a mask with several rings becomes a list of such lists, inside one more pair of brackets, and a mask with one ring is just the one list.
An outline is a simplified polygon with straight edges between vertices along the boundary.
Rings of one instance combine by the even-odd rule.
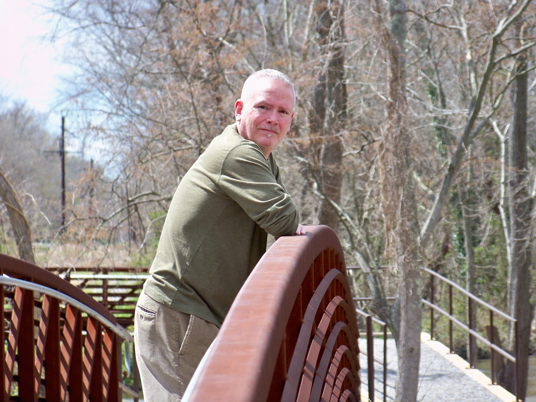
[[0, 95], [25, 101], [49, 115], [47, 128], [59, 134], [61, 76], [72, 67], [61, 62], [62, 43], [44, 39], [54, 21], [44, 14], [48, 0], [0, 0]]

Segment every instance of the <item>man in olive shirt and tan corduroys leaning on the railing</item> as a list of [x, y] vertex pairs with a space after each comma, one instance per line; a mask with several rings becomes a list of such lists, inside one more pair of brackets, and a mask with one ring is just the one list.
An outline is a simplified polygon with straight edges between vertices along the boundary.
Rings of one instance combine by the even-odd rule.
[[261, 70], [244, 83], [236, 124], [212, 140], [169, 206], [135, 317], [145, 400], [178, 401], [267, 233], [305, 234], [272, 151], [294, 116], [292, 81]]

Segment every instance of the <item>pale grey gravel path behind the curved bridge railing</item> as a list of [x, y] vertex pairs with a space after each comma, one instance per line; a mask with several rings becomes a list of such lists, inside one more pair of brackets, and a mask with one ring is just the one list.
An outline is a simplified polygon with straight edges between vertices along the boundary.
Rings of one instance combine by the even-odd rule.
[[[366, 339], [359, 339], [361, 350], [367, 350]], [[360, 355], [362, 388], [368, 390], [367, 356]], [[383, 340], [374, 340], [374, 356], [383, 361]], [[397, 378], [398, 359], [393, 339], [387, 341], [387, 400], [394, 399], [394, 384]], [[383, 400], [383, 366], [374, 364], [375, 396]], [[440, 354], [421, 343], [421, 364], [419, 367], [420, 402], [502, 402], [500, 398], [489, 392], [479, 383], [465, 375], [461, 369], [453, 366]]]

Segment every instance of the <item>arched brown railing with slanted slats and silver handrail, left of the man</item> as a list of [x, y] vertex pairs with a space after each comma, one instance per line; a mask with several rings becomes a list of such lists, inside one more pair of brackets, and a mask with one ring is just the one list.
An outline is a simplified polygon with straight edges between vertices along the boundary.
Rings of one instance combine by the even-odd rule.
[[[2, 400], [120, 401], [122, 352], [130, 374], [133, 338], [115, 317], [81, 289], [23, 260], [0, 254]], [[4, 304], [10, 308], [4, 311]], [[134, 362], [136, 367], [136, 362]], [[14, 386], [14, 383], [17, 383]]]

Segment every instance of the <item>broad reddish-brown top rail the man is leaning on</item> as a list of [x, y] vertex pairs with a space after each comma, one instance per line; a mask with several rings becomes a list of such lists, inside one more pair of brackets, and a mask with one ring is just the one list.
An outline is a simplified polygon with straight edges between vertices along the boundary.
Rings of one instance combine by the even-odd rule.
[[[315, 258], [326, 249], [338, 254], [346, 272], [339, 239], [327, 226], [308, 226], [306, 234], [281, 237], [272, 245], [236, 296], [197, 382], [188, 387], [189, 402], [266, 400], [294, 302]], [[348, 301], [353, 302], [351, 296]]]

